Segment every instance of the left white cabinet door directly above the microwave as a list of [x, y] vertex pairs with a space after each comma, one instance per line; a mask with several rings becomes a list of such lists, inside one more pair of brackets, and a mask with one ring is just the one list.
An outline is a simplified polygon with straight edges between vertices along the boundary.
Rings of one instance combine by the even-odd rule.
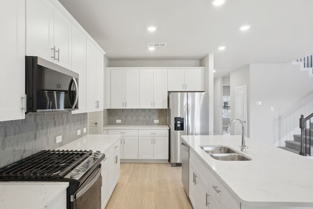
[[[3, 9], [9, 11], [6, 9], [6, 6], [3, 6]], [[49, 0], [26, 0], [27, 56], [39, 56], [53, 61], [51, 58], [53, 55], [53, 51], [51, 50], [53, 48], [53, 11], [54, 6]], [[1, 14], [4, 15], [3, 12]], [[12, 46], [11, 48], [13, 48]]]

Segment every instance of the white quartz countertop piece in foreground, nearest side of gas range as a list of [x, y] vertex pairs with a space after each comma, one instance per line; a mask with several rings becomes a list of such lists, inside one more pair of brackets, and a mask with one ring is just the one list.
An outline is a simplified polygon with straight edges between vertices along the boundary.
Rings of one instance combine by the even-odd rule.
[[68, 182], [0, 182], [0, 209], [44, 209]]

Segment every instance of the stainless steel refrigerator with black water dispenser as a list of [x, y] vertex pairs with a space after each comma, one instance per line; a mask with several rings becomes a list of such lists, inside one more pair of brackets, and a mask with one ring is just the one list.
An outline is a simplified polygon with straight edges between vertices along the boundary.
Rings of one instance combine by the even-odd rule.
[[209, 95], [204, 92], [169, 94], [170, 163], [181, 165], [182, 135], [209, 135]]

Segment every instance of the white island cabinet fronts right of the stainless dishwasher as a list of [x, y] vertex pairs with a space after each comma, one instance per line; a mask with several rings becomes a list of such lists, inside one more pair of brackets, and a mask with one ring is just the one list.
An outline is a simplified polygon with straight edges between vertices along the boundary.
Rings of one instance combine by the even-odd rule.
[[194, 209], [240, 209], [240, 201], [193, 150], [190, 150], [189, 159], [189, 198]]

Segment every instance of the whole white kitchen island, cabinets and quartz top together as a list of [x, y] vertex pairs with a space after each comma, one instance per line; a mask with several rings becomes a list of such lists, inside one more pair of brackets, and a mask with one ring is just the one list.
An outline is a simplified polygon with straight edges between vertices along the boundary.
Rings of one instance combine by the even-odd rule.
[[[195, 191], [192, 186], [202, 181], [207, 186], [206, 206], [211, 204], [211, 208], [213, 205], [218, 209], [313, 208], [311, 159], [249, 138], [246, 138], [249, 148], [242, 152], [241, 136], [182, 136], [182, 140], [190, 147], [189, 169], [194, 169], [189, 172], [191, 202]], [[251, 160], [215, 160], [201, 145], [227, 146]]]

